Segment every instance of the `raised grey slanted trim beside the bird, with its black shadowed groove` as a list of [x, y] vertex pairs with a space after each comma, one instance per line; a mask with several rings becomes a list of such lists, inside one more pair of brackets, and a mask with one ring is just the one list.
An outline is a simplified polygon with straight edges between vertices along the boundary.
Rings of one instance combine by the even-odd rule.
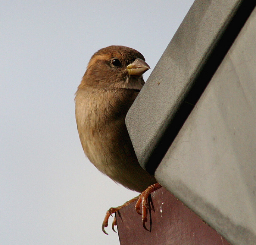
[[[141, 166], [149, 172], [154, 173], [193, 109], [196, 100], [185, 101], [191, 87], [195, 83], [199, 90], [206, 87], [232, 43], [231, 36], [244, 23], [246, 11], [237, 10], [245, 2], [255, 4], [196, 0], [129, 110], [128, 132]], [[234, 17], [238, 20], [234, 31], [227, 31]], [[197, 92], [194, 89], [193, 94]]]

